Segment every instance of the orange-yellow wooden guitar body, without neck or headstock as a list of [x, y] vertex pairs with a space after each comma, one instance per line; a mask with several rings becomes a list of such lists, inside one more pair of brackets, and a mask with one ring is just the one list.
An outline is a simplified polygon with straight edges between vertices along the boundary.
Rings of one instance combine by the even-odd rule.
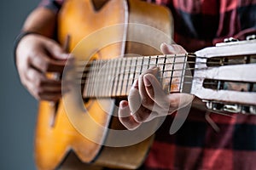
[[[142, 42], [131, 42], [137, 37], [145, 42], [148, 41], [148, 37], [158, 37], [151, 34], [149, 36], [150, 32], [144, 32], [137, 26], [128, 26], [127, 23], [152, 26], [170, 37], [172, 35], [172, 18], [166, 8], [139, 0], [96, 2], [66, 1], [61, 8], [58, 19], [59, 40], [64, 43], [65, 37], [70, 35], [70, 49], [76, 60], [112, 59], [124, 57], [125, 54], [160, 54], [159, 50]], [[100, 32], [98, 38], [90, 38], [93, 32], [111, 26], [111, 31]], [[81, 41], [84, 37], [88, 37], [87, 41]], [[170, 37], [159, 41], [170, 42]], [[109, 42], [109, 39], [114, 43]], [[119, 41], [115, 42], [117, 40]], [[160, 42], [157, 44], [159, 47]], [[143, 163], [153, 137], [124, 147], [113, 147], [109, 144], [104, 146], [106, 141], [113, 140], [109, 139], [109, 128], [123, 128], [118, 118], [112, 116], [117, 111], [114, 99], [86, 100], [83, 103], [85, 111], [79, 109], [76, 101], [71, 101], [68, 105], [71, 105], [69, 109], [63, 99], [58, 105], [46, 101], [39, 104], [35, 139], [38, 169], [96, 168], [88, 167], [89, 163], [104, 167], [135, 169]], [[91, 119], [87, 121], [84, 115], [90, 116]], [[79, 122], [81, 120], [82, 123]], [[91, 120], [96, 123], [91, 123]], [[83, 132], [88, 133], [84, 135]]]

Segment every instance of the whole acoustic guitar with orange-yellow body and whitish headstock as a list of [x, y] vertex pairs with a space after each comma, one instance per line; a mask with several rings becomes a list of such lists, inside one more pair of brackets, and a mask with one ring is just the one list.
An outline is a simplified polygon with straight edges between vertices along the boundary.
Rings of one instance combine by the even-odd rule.
[[58, 22], [60, 42], [72, 37], [75, 66], [62, 78], [73, 88], [55, 104], [39, 104], [38, 169], [65, 164], [70, 169], [66, 162], [72, 154], [84, 163], [81, 169], [96, 168], [88, 164], [139, 167], [163, 119], [127, 131], [116, 116], [116, 104], [152, 65], [160, 68], [166, 93], [194, 94], [211, 111], [256, 114], [255, 40], [218, 44], [195, 54], [156, 55], [161, 42], [172, 42], [172, 14], [139, 0], [66, 1]]

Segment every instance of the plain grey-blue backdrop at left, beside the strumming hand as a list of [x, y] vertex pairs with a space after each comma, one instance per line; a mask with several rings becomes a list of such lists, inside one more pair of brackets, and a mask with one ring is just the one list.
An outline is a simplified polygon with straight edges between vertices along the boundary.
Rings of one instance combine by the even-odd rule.
[[38, 102], [20, 84], [13, 61], [13, 42], [26, 15], [39, 0], [0, 3], [0, 169], [34, 170], [33, 137]]

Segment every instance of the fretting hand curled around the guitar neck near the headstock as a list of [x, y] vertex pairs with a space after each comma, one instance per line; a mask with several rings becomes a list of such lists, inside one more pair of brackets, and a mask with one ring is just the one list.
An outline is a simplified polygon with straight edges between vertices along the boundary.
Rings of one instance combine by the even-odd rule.
[[[163, 54], [184, 54], [178, 45], [161, 45]], [[127, 129], [136, 129], [143, 122], [158, 116], [172, 114], [173, 111], [189, 105], [194, 96], [189, 94], [166, 94], [156, 75], [157, 67], [145, 71], [131, 87], [128, 101], [119, 103], [119, 120]]]

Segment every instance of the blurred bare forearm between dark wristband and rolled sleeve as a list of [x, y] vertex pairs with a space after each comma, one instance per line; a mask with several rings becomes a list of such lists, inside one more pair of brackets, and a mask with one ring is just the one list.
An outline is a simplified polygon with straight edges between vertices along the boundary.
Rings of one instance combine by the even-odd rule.
[[48, 8], [39, 7], [27, 17], [22, 31], [37, 32], [45, 37], [53, 37], [57, 14]]

